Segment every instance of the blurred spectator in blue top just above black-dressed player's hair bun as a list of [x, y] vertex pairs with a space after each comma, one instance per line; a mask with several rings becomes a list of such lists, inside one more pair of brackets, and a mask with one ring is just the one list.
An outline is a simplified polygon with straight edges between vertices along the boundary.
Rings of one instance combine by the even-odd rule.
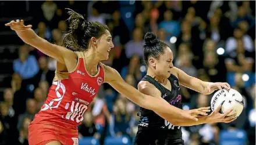
[[163, 28], [166, 31], [166, 40], [170, 37], [178, 37], [180, 34], [180, 24], [179, 21], [172, 19], [172, 12], [166, 10], [164, 13], [164, 20], [159, 24], [159, 28]]

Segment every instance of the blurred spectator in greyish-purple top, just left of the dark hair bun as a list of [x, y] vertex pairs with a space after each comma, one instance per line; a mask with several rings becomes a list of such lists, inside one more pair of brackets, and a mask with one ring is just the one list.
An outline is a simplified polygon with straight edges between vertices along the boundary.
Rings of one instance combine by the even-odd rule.
[[125, 46], [125, 52], [127, 58], [131, 58], [133, 55], [143, 57], [143, 32], [141, 28], [135, 28], [133, 30], [133, 39], [127, 42]]

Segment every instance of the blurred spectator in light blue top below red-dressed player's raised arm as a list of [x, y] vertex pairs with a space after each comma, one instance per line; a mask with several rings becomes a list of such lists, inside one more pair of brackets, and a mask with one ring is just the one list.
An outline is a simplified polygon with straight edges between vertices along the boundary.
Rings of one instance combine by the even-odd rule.
[[27, 45], [22, 45], [19, 48], [19, 59], [13, 61], [13, 71], [18, 73], [23, 79], [35, 77], [39, 71], [37, 59], [29, 55]]

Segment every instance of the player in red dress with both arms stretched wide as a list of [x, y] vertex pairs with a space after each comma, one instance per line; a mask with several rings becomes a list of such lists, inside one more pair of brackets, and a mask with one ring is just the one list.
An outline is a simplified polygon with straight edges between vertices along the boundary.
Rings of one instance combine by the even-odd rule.
[[[155, 111], [169, 122], [173, 119], [197, 120], [198, 114], [206, 115], [208, 107], [181, 110], [171, 106], [161, 97], [152, 97], [138, 92], [127, 84], [119, 73], [100, 61], [108, 59], [113, 42], [108, 27], [86, 21], [83, 16], [70, 10], [70, 30], [65, 35], [64, 45], [58, 46], [38, 37], [31, 25], [23, 20], [10, 21], [10, 26], [26, 43], [58, 61], [55, 78], [47, 100], [29, 126], [30, 145], [78, 144], [77, 125], [104, 82], [110, 84], [128, 99], [141, 107]], [[171, 68], [168, 67], [166, 70]]]

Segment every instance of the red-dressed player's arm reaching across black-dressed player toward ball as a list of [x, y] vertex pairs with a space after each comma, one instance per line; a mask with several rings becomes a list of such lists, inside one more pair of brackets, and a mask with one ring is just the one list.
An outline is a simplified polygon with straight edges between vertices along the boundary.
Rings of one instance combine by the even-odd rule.
[[162, 118], [166, 119], [169, 122], [173, 122], [173, 119], [191, 119], [197, 121], [197, 118], [192, 114], [205, 114], [203, 111], [194, 110], [194, 111], [185, 111], [180, 108], [171, 106], [168, 102], [166, 102], [162, 97], [152, 97], [149, 95], [145, 95], [135, 89], [133, 86], [127, 84], [118, 71], [115, 69], [105, 66], [105, 80], [110, 84], [113, 88], [115, 88], [119, 93], [122, 93], [132, 102], [138, 104], [143, 108], [147, 108], [149, 110], [155, 111], [155, 113], [159, 114]]

